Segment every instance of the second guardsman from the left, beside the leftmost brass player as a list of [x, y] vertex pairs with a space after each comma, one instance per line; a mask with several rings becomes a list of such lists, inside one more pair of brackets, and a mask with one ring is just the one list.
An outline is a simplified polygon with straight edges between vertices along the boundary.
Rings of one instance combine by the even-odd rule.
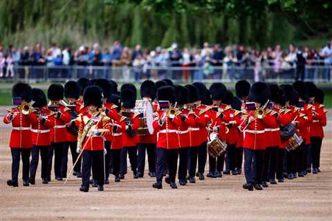
[[35, 113], [37, 114], [38, 120], [31, 124], [33, 149], [31, 150], [29, 182], [30, 184], [35, 184], [40, 152], [40, 158], [42, 159], [42, 181], [43, 184], [48, 184], [47, 156], [48, 149], [50, 148], [50, 128], [54, 126], [54, 115], [50, 115], [50, 110], [47, 108], [44, 90], [33, 88], [33, 101], [35, 102], [33, 107], [37, 109]]

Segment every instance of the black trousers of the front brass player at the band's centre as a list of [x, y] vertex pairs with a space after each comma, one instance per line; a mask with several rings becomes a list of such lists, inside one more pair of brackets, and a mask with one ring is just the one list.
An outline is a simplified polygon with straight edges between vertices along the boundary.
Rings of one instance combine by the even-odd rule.
[[176, 169], [178, 168], [178, 149], [156, 148], [157, 164], [156, 164], [156, 180], [163, 181], [163, 173], [165, 171], [166, 162], [169, 169], [169, 180], [175, 182]]

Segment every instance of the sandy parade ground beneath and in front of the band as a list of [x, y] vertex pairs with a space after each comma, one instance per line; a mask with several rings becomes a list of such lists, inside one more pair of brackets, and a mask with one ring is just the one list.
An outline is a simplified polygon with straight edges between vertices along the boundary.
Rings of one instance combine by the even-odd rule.
[[178, 189], [163, 183], [163, 189], [156, 190], [151, 187], [154, 179], [145, 175], [133, 180], [129, 173], [120, 183], [111, 176], [104, 192], [91, 188], [89, 193], [78, 191], [77, 178], [66, 185], [57, 181], [43, 185], [37, 179], [35, 186], [23, 187], [21, 181], [19, 188], [7, 186], [10, 130], [1, 123], [0, 220], [331, 220], [331, 123], [322, 146], [322, 173], [286, 180], [264, 191], [243, 190], [243, 175], [207, 178]]

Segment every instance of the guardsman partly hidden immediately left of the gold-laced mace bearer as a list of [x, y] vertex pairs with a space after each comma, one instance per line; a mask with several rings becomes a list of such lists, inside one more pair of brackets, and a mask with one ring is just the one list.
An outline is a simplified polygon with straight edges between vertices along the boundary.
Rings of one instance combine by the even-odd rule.
[[[64, 85], [64, 97], [66, 97], [68, 104], [66, 105], [66, 107], [70, 109], [68, 112], [71, 115], [71, 121], [66, 124], [66, 144], [64, 144], [61, 166], [62, 177], [67, 177], [68, 149], [71, 148], [71, 157], [74, 164], [78, 157], [78, 153], [76, 153], [78, 133], [78, 122], [76, 121], [76, 118], [78, 114], [84, 109], [84, 107], [82, 107], [82, 104], [80, 104], [80, 102], [77, 102], [80, 97], [80, 86], [79, 84], [77, 84], [76, 81], [66, 82], [66, 84]], [[82, 177], [81, 160], [79, 160], [75, 165], [73, 175], [76, 175], [77, 177]]]

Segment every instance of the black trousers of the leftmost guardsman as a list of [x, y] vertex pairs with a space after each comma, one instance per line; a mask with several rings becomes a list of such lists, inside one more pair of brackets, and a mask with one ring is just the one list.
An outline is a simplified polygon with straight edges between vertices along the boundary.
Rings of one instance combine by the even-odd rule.
[[10, 148], [12, 153], [12, 180], [17, 182], [19, 177], [19, 160], [22, 159], [22, 180], [28, 181], [31, 148]]

